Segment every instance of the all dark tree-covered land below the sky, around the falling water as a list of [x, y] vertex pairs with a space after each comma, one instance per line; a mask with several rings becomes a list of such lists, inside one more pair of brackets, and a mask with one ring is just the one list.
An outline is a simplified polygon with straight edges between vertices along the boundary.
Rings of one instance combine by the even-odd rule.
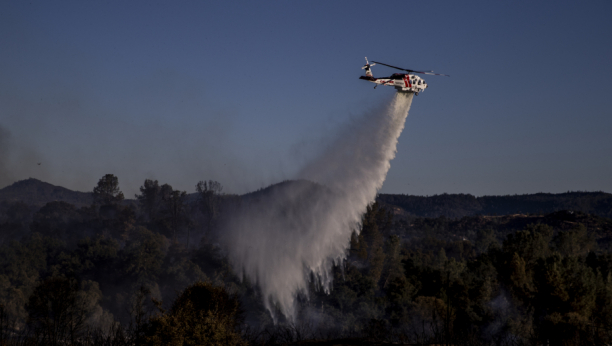
[[[147, 180], [125, 199], [35, 179], [0, 190], [0, 345], [604, 345], [612, 195], [380, 195], [330, 294], [273, 323], [215, 231], [244, 196]], [[280, 316], [276, 312], [277, 316]]]

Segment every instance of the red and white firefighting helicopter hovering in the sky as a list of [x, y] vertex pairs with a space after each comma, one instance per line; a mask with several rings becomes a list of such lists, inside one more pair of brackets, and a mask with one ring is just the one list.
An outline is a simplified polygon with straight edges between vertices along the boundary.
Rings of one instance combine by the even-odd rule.
[[[398, 70], [406, 71], [408, 73], [407, 74], [394, 73], [390, 77], [375, 78], [372, 75], [371, 67], [376, 64], [389, 66], [389, 67], [392, 67]], [[410, 73], [421, 73], [421, 74], [429, 74], [429, 75], [435, 75], [435, 76], [450, 77], [449, 75], [441, 74], [441, 73], [434, 73], [433, 71], [409, 70], [405, 68], [383, 64], [382, 62], [378, 62], [378, 61], [372, 61], [372, 63], [370, 64], [368, 62], [367, 57], [366, 57], [366, 64], [361, 69], [366, 70], [366, 75], [359, 77], [359, 79], [363, 79], [363, 80], [367, 80], [368, 82], [376, 83], [376, 86], [374, 86], [374, 89], [376, 89], [376, 87], [379, 85], [390, 85], [390, 86], [395, 87], [395, 89], [397, 89], [398, 92], [409, 92], [409, 93], [414, 93], [415, 95], [418, 95], [421, 91], [427, 89], [427, 83], [425, 83], [423, 78], [419, 76], [415, 76]]]

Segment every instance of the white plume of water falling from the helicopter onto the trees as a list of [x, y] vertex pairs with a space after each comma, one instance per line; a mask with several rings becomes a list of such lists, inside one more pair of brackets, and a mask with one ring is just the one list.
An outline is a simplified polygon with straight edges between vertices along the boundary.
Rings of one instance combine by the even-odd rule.
[[345, 127], [298, 174], [306, 180], [247, 195], [231, 213], [221, 242], [276, 320], [276, 312], [295, 319], [295, 300], [307, 293], [311, 274], [331, 289], [332, 265], [346, 257], [351, 233], [385, 180], [412, 97], [397, 93], [385, 109]]

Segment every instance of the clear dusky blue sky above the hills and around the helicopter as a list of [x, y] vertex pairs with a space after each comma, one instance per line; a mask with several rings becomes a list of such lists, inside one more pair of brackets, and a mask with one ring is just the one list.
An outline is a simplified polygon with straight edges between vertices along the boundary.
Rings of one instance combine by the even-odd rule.
[[[295, 178], [424, 76], [382, 193], [612, 192], [609, 1], [3, 1], [0, 188]], [[374, 66], [374, 76], [396, 72]], [[39, 164], [40, 163], [40, 164]]]

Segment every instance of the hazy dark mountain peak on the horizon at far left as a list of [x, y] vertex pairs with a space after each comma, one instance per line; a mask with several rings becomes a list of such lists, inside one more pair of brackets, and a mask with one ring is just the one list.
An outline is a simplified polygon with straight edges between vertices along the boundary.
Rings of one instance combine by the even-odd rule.
[[43, 206], [53, 201], [63, 201], [82, 207], [93, 201], [91, 192], [72, 191], [61, 186], [45, 183], [38, 179], [20, 180], [0, 189], [0, 201], [24, 202], [29, 205]]

